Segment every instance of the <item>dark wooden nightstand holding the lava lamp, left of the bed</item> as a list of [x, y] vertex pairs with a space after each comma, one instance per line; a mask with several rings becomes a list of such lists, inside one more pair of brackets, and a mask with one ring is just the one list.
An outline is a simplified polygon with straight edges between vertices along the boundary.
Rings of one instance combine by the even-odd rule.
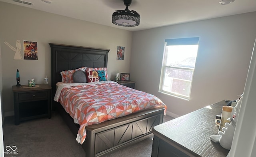
[[52, 116], [52, 87], [39, 84], [36, 87], [28, 85], [12, 86], [14, 93], [14, 117], [15, 125], [20, 121]]

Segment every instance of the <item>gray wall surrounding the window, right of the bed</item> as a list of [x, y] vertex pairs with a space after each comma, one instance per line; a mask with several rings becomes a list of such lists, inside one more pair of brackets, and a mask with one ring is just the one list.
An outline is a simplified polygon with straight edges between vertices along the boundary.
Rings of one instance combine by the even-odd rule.
[[[190, 101], [158, 92], [164, 40], [188, 37], [200, 37]], [[255, 37], [256, 12], [133, 32], [131, 79], [164, 101], [173, 117], [235, 100], [244, 91]]]

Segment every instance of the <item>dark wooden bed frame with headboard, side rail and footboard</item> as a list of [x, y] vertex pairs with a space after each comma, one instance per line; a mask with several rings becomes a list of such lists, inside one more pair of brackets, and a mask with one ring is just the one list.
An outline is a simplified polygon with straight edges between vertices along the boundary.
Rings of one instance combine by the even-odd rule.
[[[49, 44], [52, 51], [52, 99], [55, 95], [56, 83], [62, 80], [60, 72], [63, 70], [72, 70], [83, 66], [107, 67], [109, 52], [107, 49]], [[72, 117], [66, 113], [60, 103], [52, 101], [52, 106], [58, 109], [76, 137], [80, 126], [73, 122]], [[113, 151], [152, 136], [152, 127], [162, 123], [163, 115], [164, 107], [157, 107], [87, 126], [86, 140], [82, 144], [86, 157], [106, 156]]]

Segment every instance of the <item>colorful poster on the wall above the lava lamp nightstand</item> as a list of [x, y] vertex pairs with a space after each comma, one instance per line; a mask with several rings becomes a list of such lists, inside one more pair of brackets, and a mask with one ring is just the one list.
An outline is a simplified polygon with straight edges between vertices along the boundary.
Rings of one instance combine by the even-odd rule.
[[24, 60], [38, 60], [37, 42], [23, 41]]

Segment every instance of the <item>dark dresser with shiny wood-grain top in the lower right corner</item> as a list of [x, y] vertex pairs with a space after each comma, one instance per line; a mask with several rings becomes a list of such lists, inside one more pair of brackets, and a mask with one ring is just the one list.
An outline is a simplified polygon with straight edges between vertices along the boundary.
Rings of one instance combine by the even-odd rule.
[[210, 140], [218, 134], [216, 115], [225, 100], [214, 103], [152, 129], [152, 157], [226, 157], [229, 150]]

